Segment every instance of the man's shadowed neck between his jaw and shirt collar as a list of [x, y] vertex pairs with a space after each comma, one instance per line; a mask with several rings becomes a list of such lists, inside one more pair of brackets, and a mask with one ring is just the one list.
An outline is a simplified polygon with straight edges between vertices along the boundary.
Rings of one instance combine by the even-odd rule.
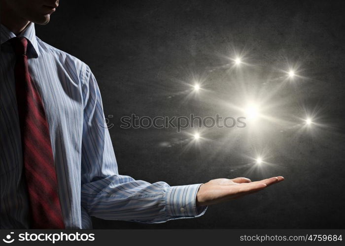
[[5, 1], [1, 1], [1, 24], [8, 28], [9, 31], [18, 35], [29, 25], [29, 23], [30, 21], [18, 16], [9, 8]]

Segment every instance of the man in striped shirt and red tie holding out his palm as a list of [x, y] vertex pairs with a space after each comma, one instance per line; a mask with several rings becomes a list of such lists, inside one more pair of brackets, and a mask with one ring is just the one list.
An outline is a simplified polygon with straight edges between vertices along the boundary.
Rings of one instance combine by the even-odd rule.
[[103, 106], [90, 68], [35, 36], [35, 23], [47, 24], [59, 0], [0, 3], [2, 229], [92, 228], [91, 216], [142, 223], [197, 217], [208, 205], [283, 180], [170, 186], [119, 175], [109, 132], [99, 126]]

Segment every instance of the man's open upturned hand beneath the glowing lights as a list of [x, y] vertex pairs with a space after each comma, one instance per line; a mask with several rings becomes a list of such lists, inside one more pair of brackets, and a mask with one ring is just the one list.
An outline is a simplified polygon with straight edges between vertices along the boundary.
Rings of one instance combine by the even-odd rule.
[[215, 179], [202, 184], [197, 193], [197, 206], [212, 205], [242, 197], [247, 194], [258, 192], [283, 181], [281, 176], [270, 179], [251, 182], [247, 178]]

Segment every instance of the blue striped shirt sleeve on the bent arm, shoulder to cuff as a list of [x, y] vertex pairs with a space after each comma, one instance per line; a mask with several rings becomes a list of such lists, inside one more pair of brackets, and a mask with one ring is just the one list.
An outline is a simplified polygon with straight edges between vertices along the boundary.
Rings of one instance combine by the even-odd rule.
[[207, 207], [197, 207], [195, 203], [201, 184], [150, 184], [118, 174], [101, 94], [87, 65], [82, 73], [81, 90], [84, 106], [81, 205], [87, 213], [103, 219], [141, 223], [203, 215]]

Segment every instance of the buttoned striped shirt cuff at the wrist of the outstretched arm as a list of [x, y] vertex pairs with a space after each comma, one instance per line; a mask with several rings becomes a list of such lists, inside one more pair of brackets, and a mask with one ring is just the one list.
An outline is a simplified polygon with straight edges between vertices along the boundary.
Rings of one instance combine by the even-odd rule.
[[196, 206], [199, 187], [202, 184], [170, 186], [167, 190], [167, 211], [173, 217], [199, 217], [204, 215], [207, 206]]

